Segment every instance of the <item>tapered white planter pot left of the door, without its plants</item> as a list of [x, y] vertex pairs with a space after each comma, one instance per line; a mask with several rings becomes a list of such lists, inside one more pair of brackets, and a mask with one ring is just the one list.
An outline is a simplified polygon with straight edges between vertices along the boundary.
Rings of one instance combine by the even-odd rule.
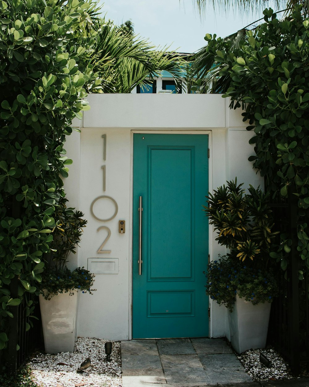
[[76, 341], [78, 292], [62, 293], [51, 300], [39, 297], [46, 353], [73, 352]]

